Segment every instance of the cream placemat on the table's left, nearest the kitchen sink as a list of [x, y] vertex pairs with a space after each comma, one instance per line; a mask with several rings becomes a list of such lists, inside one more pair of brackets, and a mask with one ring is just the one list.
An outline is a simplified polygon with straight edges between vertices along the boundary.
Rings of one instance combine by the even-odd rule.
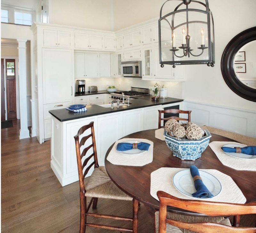
[[[116, 145], [119, 142], [125, 141], [141, 141], [147, 142], [150, 144], [148, 151], [145, 151], [141, 154], [121, 154], [116, 151]], [[124, 166], [144, 166], [153, 161], [153, 147], [154, 143], [147, 139], [139, 139], [139, 138], [124, 138], [117, 140], [111, 151], [108, 154], [107, 160], [115, 165], [124, 165]]]

